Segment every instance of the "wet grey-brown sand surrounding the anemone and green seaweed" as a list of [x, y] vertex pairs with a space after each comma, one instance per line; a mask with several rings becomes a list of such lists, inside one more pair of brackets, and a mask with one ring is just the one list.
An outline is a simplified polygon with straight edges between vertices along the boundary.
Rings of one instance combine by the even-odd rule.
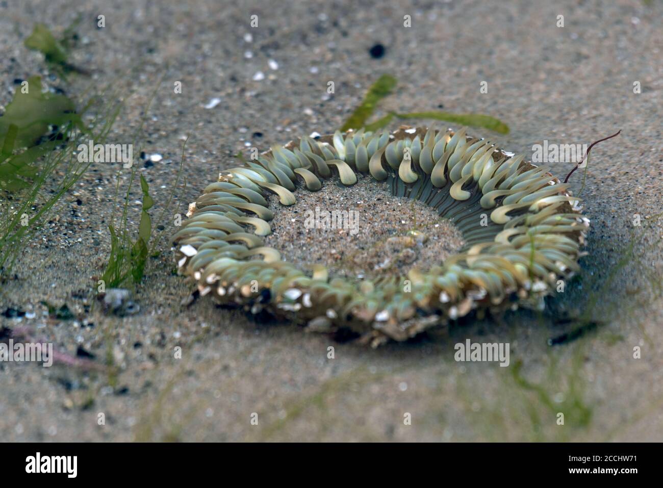
[[[156, 202], [152, 215], [168, 200], [182, 137], [190, 135], [186, 186], [162, 222], [160, 255], [149, 260], [135, 290], [138, 314], [105, 315], [94, 298], [110, 249], [107, 224], [119, 168], [93, 166], [21, 251], [15, 278], [1, 284], [0, 312], [30, 313], [0, 316], [1, 325], [27, 328], [73, 357], [111, 363], [115, 373], [0, 364], [0, 440], [663, 438], [663, 302], [656, 287], [663, 227], [654, 217], [663, 194], [660, 2], [523, 0], [499, 9], [455, 1], [277, 7], [133, 0], [82, 7], [53, 0], [48, 9], [38, 1], [9, 2], [0, 5], [0, 105], [11, 100], [13, 80], [48, 77], [42, 56], [23, 47], [34, 23], [62, 32], [78, 13], [84, 21], [70, 60], [93, 76], [49, 84], [76, 95], [90, 83], [113, 82], [127, 107], [109, 140], [131, 143], [163, 77], [140, 148], [163, 156], [152, 165], [139, 162]], [[96, 28], [99, 13], [106, 15], [104, 29]], [[249, 27], [253, 14], [261, 19], [256, 29]], [[406, 14], [410, 29], [402, 25]], [[564, 28], [556, 27], [560, 14]], [[377, 42], [386, 47], [379, 59], [369, 54]], [[248, 156], [249, 147], [265, 151], [300, 134], [333, 132], [382, 73], [399, 85], [377, 116], [387, 110], [487, 113], [508, 123], [511, 133], [471, 133], [514, 153], [531, 154], [544, 139], [591, 143], [622, 129], [592, 152], [580, 195], [591, 219], [589, 254], [579, 276], [542, 314], [523, 310], [452, 324], [377, 350], [289, 324], [253, 322], [212, 300], [182, 306], [193, 285], [173, 273], [166, 236], [174, 233], [174, 214], [183, 215], [219, 170], [237, 164], [239, 151]], [[178, 81], [182, 93], [174, 93]], [[487, 93], [479, 91], [482, 81]], [[641, 93], [633, 92], [636, 81]], [[453, 127], [437, 124], [446, 125]], [[556, 176], [570, 170], [563, 162], [548, 166]], [[576, 195], [581, 176], [571, 180]], [[119, 178], [126, 188], [128, 174]], [[133, 229], [140, 219], [135, 190]], [[640, 227], [633, 225], [636, 213]], [[72, 317], [50, 316], [42, 302], [66, 305]], [[593, 328], [582, 328], [590, 322]], [[587, 332], [573, 335], [578, 329]], [[549, 345], [564, 334], [574, 339]], [[457, 363], [453, 346], [468, 338], [509, 342], [511, 366]], [[327, 357], [330, 346], [335, 359]], [[259, 426], [250, 423], [253, 412]], [[404, 412], [412, 414], [412, 425], [403, 424]], [[559, 412], [564, 426], [556, 424]]]

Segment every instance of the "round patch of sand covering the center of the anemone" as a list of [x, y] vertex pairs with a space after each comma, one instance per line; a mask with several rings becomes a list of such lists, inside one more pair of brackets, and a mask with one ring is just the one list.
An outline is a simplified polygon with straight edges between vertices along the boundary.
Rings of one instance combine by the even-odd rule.
[[296, 197], [295, 205], [274, 212], [265, 245], [302, 269], [323, 265], [330, 276], [348, 279], [406, 276], [442, 265], [465, 244], [433, 208], [392, 196], [387, 183], [367, 176], [358, 175], [353, 186], [333, 178]]

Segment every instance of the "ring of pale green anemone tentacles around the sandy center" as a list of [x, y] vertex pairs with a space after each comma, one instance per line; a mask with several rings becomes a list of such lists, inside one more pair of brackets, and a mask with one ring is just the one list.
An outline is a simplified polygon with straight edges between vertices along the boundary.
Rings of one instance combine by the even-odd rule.
[[[392, 195], [418, 199], [450, 219], [463, 249], [425, 272], [357, 282], [320, 265], [300, 269], [264, 245], [278, 212], [267, 192], [290, 206], [298, 191], [320, 190], [334, 176], [349, 186], [357, 173], [387, 180]], [[219, 174], [190, 205], [173, 241], [179, 272], [198, 282], [200, 295], [311, 330], [351, 331], [375, 346], [472, 310], [541, 306], [558, 280], [579, 269], [589, 227], [580, 211], [568, 184], [546, 168], [464, 128], [337, 131], [272, 147]]]

